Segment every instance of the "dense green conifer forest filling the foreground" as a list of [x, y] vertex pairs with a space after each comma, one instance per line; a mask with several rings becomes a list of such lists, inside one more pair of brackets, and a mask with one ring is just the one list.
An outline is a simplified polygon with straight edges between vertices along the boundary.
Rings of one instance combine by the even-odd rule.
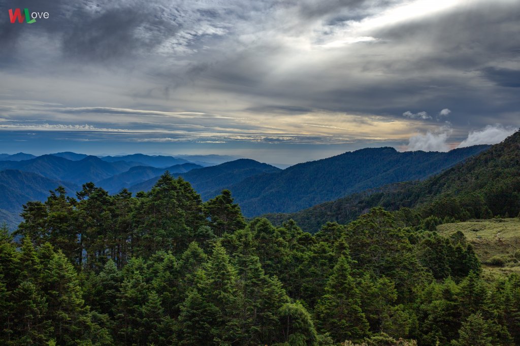
[[164, 174], [24, 206], [0, 232], [7, 345], [513, 345], [520, 275], [483, 280], [461, 232], [373, 208], [316, 234], [246, 222]]

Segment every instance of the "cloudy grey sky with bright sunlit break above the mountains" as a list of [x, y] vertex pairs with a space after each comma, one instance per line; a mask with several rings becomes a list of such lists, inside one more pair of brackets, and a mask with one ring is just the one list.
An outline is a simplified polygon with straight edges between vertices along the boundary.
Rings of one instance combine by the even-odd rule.
[[0, 0], [0, 152], [497, 143], [520, 127], [519, 33], [518, 0]]

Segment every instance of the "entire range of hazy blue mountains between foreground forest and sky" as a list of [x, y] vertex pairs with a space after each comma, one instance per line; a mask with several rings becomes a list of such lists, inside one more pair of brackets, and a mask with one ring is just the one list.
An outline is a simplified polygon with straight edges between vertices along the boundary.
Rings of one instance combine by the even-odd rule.
[[[19, 174], [4, 174], [0, 180], [0, 193], [10, 196], [11, 201], [9, 208], [0, 206], [4, 210], [0, 217], [4, 215], [3, 219], [14, 224], [12, 220], [17, 219], [23, 203], [45, 199], [48, 190], [59, 184], [70, 193], [89, 181], [110, 193], [123, 188], [136, 193], [150, 190], [166, 170], [189, 181], [204, 200], [229, 189], [248, 217], [293, 212], [389, 183], [425, 179], [488, 148], [488, 145], [476, 145], [447, 153], [362, 149], [284, 170], [252, 159], [203, 167], [185, 158], [144, 154], [97, 157], [62, 152], [22, 161], [8, 159], [0, 161], [0, 171], [18, 171]], [[32, 174], [31, 178], [25, 176], [28, 173]], [[35, 176], [46, 180], [38, 181]], [[29, 180], [31, 184], [24, 183]]]

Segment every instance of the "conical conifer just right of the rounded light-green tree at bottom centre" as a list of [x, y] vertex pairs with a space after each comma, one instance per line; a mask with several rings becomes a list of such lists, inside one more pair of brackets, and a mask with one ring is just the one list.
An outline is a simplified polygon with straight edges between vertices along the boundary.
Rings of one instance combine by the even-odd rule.
[[320, 329], [330, 332], [336, 342], [365, 336], [369, 324], [361, 310], [359, 291], [345, 257], [337, 261], [325, 291], [315, 310]]

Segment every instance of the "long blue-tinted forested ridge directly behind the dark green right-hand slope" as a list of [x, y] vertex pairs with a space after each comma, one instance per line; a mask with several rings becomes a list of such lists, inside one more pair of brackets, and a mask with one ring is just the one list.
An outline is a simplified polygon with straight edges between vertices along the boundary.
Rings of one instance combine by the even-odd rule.
[[449, 152], [366, 148], [251, 177], [227, 188], [245, 216], [293, 212], [385, 184], [424, 179], [489, 147], [474, 145]]

